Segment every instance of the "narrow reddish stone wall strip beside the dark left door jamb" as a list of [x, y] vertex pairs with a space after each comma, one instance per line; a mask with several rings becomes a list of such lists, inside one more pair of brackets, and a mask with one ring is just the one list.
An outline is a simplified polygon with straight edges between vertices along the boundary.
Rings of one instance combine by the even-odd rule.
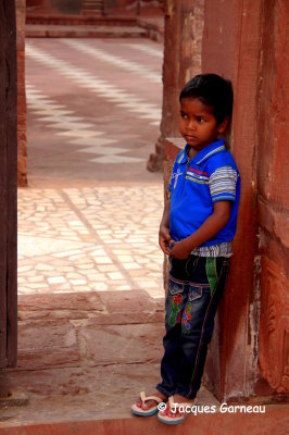
[[27, 140], [25, 97], [25, 0], [16, 0], [17, 41], [17, 183], [27, 185]]

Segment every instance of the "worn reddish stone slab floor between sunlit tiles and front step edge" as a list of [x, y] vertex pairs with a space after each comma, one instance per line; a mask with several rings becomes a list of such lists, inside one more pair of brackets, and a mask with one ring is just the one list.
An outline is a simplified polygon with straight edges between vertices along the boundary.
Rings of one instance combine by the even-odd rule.
[[[143, 290], [20, 296], [17, 369], [0, 373], [13, 393], [10, 403], [0, 398], [0, 433], [129, 418], [138, 393], [159, 381], [163, 333], [163, 303]], [[217, 405], [205, 389], [199, 400]]]

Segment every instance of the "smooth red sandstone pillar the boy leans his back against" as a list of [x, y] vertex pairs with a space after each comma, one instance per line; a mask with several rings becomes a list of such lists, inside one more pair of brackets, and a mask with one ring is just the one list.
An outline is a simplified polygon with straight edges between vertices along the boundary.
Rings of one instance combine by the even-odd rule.
[[[241, 174], [241, 201], [231, 271], [219, 310], [219, 356], [209, 358], [211, 386], [222, 398], [253, 393], [257, 376], [260, 300], [256, 224], [257, 86], [261, 44], [261, 1], [205, 0], [202, 49], [203, 72], [234, 83], [231, 151]], [[215, 340], [217, 336], [215, 336]], [[214, 363], [215, 362], [215, 363]], [[213, 384], [214, 371], [219, 380]]]

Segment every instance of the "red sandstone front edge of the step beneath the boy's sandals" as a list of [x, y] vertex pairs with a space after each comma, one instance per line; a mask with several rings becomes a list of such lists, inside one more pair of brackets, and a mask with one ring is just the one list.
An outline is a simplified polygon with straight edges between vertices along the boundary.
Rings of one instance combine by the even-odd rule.
[[0, 422], [0, 435], [250, 435], [288, 434], [288, 406], [267, 406], [263, 413], [211, 413], [189, 415], [179, 425], [169, 428], [168, 425], [151, 418], [124, 418], [114, 420], [90, 421], [50, 421], [27, 423]]

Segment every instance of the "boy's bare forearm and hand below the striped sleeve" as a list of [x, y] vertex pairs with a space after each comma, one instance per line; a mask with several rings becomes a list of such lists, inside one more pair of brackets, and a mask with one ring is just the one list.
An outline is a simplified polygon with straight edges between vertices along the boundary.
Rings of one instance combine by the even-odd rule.
[[192, 249], [202, 245], [215, 234], [217, 234], [230, 219], [230, 201], [214, 202], [213, 213], [204, 221], [204, 223], [189, 237], [181, 241], [172, 241], [173, 248], [169, 254], [177, 259], [186, 259]]

